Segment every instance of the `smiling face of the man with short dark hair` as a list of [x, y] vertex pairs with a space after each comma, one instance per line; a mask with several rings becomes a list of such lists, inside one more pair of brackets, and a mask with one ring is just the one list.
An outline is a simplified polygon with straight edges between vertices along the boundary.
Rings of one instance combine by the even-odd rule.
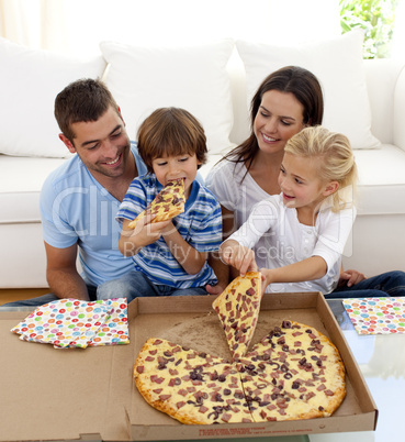
[[97, 121], [71, 124], [74, 144], [64, 135], [61, 141], [71, 153], [77, 153], [97, 179], [98, 176], [120, 177], [127, 167], [130, 139], [120, 113], [110, 107]]

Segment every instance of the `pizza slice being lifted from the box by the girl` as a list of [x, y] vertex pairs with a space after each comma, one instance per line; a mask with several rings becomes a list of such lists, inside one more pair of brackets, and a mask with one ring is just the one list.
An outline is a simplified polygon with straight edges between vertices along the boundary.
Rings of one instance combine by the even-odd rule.
[[226, 334], [233, 360], [246, 354], [259, 318], [261, 274], [235, 278], [212, 303]]

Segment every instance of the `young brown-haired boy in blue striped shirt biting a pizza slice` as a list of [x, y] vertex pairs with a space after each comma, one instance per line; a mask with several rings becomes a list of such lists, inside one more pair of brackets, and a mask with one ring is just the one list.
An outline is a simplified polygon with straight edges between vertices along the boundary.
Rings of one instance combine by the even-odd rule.
[[[206, 295], [216, 284], [207, 264], [222, 242], [221, 208], [195, 176], [206, 161], [206, 137], [196, 119], [178, 108], [154, 111], [138, 130], [138, 152], [148, 173], [133, 180], [116, 219], [122, 223], [120, 251], [135, 269], [98, 287], [98, 299], [142, 296]], [[128, 223], [155, 199], [169, 180], [184, 179], [184, 212], [151, 222], [150, 214]]]

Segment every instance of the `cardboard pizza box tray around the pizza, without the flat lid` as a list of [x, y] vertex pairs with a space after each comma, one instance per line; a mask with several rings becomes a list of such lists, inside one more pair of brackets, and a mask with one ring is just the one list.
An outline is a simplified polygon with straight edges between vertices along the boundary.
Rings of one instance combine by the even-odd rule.
[[[211, 305], [214, 297], [139, 298], [131, 305], [138, 353], [148, 338], [162, 338], [229, 358], [225, 334]], [[347, 396], [329, 418], [215, 426], [187, 426], [150, 407], [134, 387], [128, 423], [133, 440], [236, 439], [254, 437], [370, 431], [378, 410], [360, 368], [325, 298], [318, 292], [269, 294], [261, 301], [252, 339], [259, 342], [272, 325], [293, 320], [316, 328], [338, 347], [347, 371]]]

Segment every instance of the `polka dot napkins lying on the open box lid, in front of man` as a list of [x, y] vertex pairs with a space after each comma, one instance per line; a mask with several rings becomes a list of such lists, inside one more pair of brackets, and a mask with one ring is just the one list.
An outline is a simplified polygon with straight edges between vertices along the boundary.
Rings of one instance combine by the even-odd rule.
[[127, 344], [127, 302], [58, 299], [38, 307], [11, 331], [23, 341], [57, 349]]

